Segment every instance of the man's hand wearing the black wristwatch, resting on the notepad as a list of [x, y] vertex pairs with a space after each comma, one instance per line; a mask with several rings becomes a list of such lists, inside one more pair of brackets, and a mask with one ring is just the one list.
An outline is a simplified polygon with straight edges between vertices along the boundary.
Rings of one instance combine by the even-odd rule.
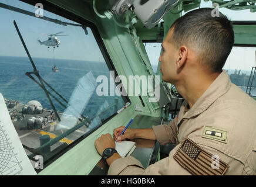
[[107, 134], [102, 134], [97, 140], [95, 141], [95, 147], [97, 152], [102, 156], [103, 151], [106, 148], [116, 148], [116, 144], [114, 143], [114, 138], [107, 133]]

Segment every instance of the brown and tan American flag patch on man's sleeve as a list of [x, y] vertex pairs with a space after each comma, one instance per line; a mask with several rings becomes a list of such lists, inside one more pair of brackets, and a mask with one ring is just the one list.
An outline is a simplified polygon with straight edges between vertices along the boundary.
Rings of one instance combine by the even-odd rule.
[[229, 165], [185, 138], [174, 159], [192, 175], [224, 175]]

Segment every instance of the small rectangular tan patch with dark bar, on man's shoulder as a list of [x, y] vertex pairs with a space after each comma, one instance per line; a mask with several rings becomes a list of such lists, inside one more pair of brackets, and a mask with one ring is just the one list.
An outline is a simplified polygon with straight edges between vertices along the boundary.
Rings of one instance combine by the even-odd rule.
[[202, 137], [227, 143], [228, 131], [205, 126]]

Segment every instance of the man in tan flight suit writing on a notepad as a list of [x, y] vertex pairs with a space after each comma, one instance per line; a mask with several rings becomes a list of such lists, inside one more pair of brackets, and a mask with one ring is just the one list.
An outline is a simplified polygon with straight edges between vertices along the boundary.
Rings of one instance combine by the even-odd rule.
[[[177, 146], [146, 169], [139, 161], [114, 153], [106, 159], [109, 175], [255, 175], [256, 102], [231, 83], [222, 70], [234, 44], [231, 22], [212, 9], [177, 19], [163, 41], [159, 58], [163, 81], [185, 99], [178, 116], [152, 129], [114, 129], [114, 138], [147, 138]], [[114, 148], [110, 134], [95, 141], [100, 155]]]

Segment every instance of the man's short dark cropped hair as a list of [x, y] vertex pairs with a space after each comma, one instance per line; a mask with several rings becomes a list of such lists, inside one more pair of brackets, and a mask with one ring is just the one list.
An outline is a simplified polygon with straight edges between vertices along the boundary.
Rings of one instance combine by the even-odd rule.
[[198, 52], [200, 63], [212, 72], [221, 72], [234, 45], [233, 25], [220, 12], [213, 17], [212, 8], [200, 8], [178, 18], [169, 40], [176, 47], [186, 44]]

